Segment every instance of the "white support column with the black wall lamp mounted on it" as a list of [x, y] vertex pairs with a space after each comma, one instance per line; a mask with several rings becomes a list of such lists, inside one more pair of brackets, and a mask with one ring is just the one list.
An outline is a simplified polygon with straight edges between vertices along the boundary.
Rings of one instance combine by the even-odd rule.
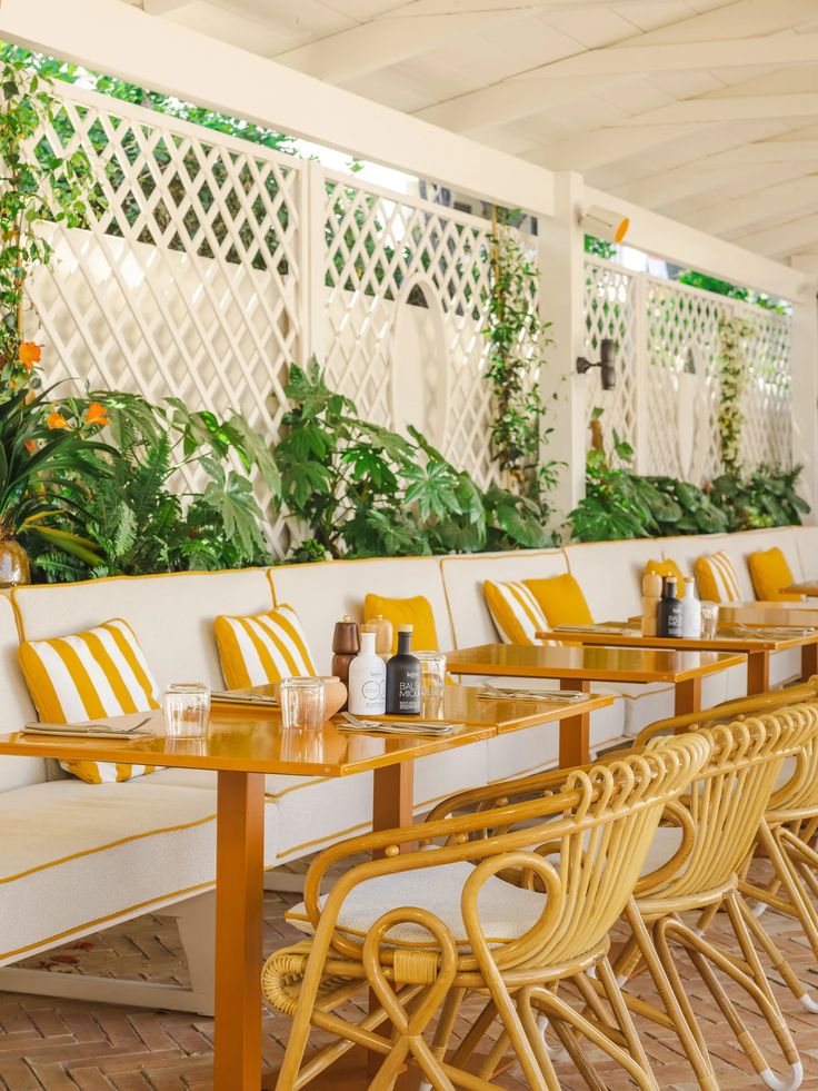
[[551, 323], [553, 346], [541, 376], [542, 399], [553, 427], [542, 458], [566, 463], [552, 494], [561, 524], [585, 495], [586, 379], [577, 375], [576, 360], [585, 349], [583, 231], [578, 222], [582, 201], [580, 175], [565, 172], [555, 178], [555, 215], [539, 220], [539, 262], [542, 270], [540, 309]]

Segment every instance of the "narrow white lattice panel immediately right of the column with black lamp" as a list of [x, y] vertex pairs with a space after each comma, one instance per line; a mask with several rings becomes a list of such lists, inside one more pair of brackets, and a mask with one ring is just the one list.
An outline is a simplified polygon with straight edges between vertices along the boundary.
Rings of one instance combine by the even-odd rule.
[[615, 432], [632, 447], [637, 445], [637, 277], [627, 269], [609, 261], [586, 261], [586, 356], [599, 359], [600, 341], [606, 337], [616, 343], [616, 387], [602, 389], [598, 368], [586, 373], [588, 407], [603, 410], [600, 424], [608, 449]]

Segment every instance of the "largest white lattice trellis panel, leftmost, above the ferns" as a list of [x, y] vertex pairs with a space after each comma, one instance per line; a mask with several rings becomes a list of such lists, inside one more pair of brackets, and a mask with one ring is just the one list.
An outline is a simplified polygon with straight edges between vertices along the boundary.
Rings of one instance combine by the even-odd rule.
[[[303, 165], [77, 88], [43, 141], [81, 147], [98, 208], [34, 282], [50, 377], [233, 407], [270, 439], [300, 353]], [[262, 502], [263, 495], [260, 495]], [[270, 528], [283, 552], [286, 528]]]

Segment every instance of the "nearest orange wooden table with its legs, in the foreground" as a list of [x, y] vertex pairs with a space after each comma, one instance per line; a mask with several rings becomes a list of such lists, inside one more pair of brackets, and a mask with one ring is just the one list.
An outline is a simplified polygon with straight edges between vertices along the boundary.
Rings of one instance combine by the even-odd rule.
[[[319, 731], [285, 731], [277, 711], [216, 707], [205, 738], [167, 738], [161, 713], [152, 716], [152, 737], [0, 735], [0, 754], [218, 773], [215, 1091], [258, 1091], [261, 1080], [265, 775], [337, 777], [372, 771], [373, 822], [376, 829], [391, 829], [412, 821], [416, 758], [491, 738], [515, 723], [576, 722], [580, 715], [569, 703], [478, 701], [457, 693], [459, 687], [449, 690], [438, 718], [457, 714], [459, 722], [476, 722], [446, 737], [349, 733], [333, 723]], [[588, 710], [606, 704], [610, 697], [591, 696]]]

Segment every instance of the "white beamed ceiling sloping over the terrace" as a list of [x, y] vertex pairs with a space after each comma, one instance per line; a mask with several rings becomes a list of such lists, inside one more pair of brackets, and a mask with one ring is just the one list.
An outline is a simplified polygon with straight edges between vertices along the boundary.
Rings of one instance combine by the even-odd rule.
[[818, 268], [818, 0], [123, 0]]

